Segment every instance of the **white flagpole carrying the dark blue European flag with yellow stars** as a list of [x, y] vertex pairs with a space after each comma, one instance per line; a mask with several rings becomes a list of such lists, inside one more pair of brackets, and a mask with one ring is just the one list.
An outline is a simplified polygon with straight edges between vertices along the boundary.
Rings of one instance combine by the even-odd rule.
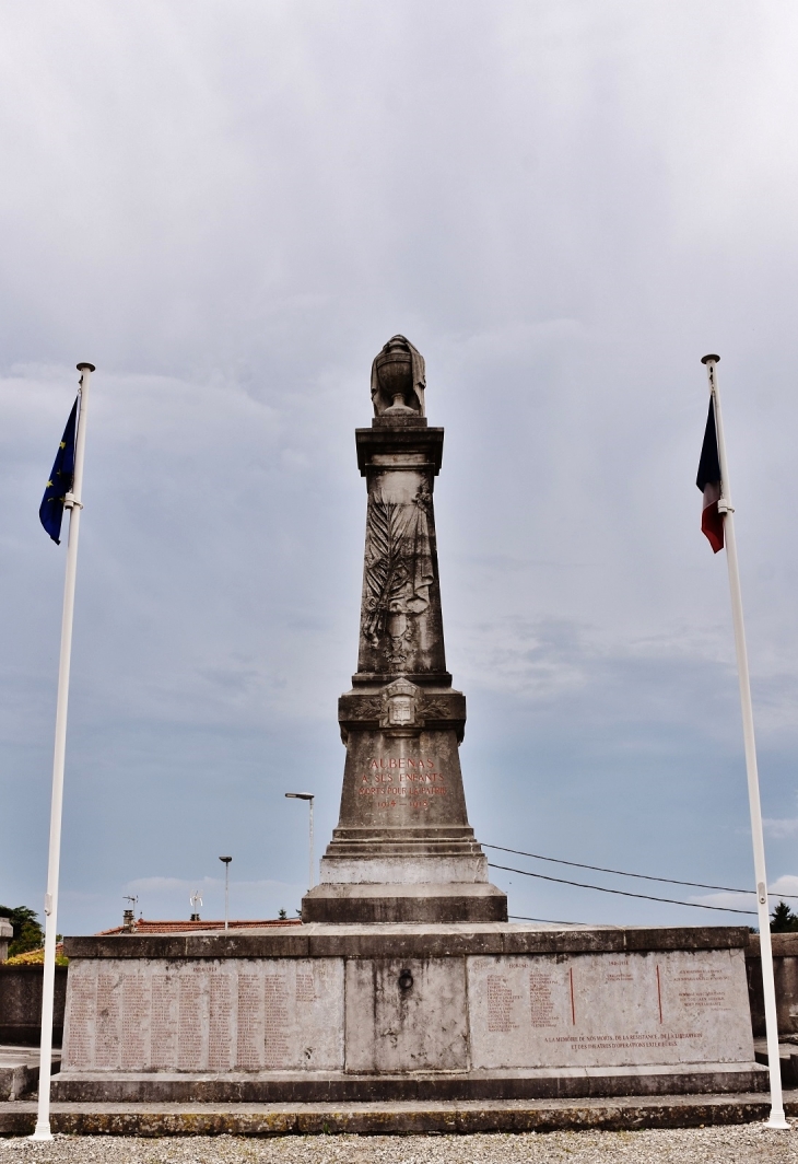
[[64, 802], [64, 757], [66, 754], [66, 710], [70, 695], [70, 660], [72, 655], [72, 617], [74, 613], [74, 579], [78, 566], [78, 534], [80, 532], [80, 497], [83, 495], [83, 463], [86, 450], [86, 414], [88, 382], [94, 364], [79, 363], [80, 407], [74, 441], [74, 478], [72, 491], [66, 494], [64, 509], [70, 511], [70, 532], [66, 541], [66, 577], [64, 580], [64, 611], [60, 623], [60, 660], [58, 663], [58, 698], [56, 701], [56, 746], [52, 759], [52, 802], [50, 807], [50, 854], [48, 859], [47, 894], [44, 895], [44, 981], [42, 985], [42, 1053], [38, 1064], [38, 1109], [36, 1130], [30, 1140], [52, 1140], [50, 1131], [50, 1073], [52, 1071], [52, 1009], [56, 986], [56, 932], [58, 929], [58, 867], [60, 863], [60, 817]]

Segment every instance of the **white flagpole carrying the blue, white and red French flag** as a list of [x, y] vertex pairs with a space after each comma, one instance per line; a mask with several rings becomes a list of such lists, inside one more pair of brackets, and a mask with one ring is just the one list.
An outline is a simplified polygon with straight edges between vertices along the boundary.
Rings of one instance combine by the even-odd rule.
[[740, 590], [740, 567], [738, 542], [734, 537], [734, 509], [728, 481], [726, 440], [720, 412], [717, 364], [720, 356], [704, 356], [710, 377], [710, 395], [714, 402], [715, 430], [718, 434], [718, 457], [720, 460], [720, 501], [718, 511], [724, 514], [724, 541], [728, 563], [728, 584], [732, 591], [732, 620], [734, 645], [738, 653], [738, 676], [740, 680], [740, 703], [742, 705], [742, 736], [746, 745], [746, 771], [748, 773], [748, 807], [754, 843], [754, 874], [756, 876], [756, 910], [760, 921], [760, 953], [762, 958], [762, 986], [764, 993], [764, 1024], [768, 1036], [768, 1071], [770, 1072], [770, 1119], [769, 1128], [789, 1128], [784, 1119], [782, 1099], [782, 1067], [778, 1055], [778, 1024], [776, 1015], [776, 984], [774, 979], [774, 956], [770, 944], [770, 913], [768, 907], [768, 876], [764, 870], [764, 835], [762, 832], [762, 805], [760, 803], [760, 776], [756, 766], [756, 741], [754, 739], [754, 709], [751, 707], [750, 680], [748, 676], [748, 650], [746, 627], [742, 620], [742, 592]]

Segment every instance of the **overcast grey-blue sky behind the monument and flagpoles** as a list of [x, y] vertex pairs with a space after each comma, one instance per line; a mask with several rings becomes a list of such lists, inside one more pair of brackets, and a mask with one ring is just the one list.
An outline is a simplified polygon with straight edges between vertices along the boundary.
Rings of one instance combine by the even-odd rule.
[[[446, 426], [477, 836], [747, 887], [726, 560], [694, 485], [721, 355], [768, 873], [798, 894], [795, 5], [0, 20], [0, 902], [44, 893], [65, 547], [37, 509], [91, 360], [59, 929], [117, 924], [126, 894], [184, 917], [197, 888], [221, 916], [227, 853], [234, 916], [299, 906], [306, 809], [283, 794], [316, 795], [319, 852], [356, 666], [352, 430], [396, 332]], [[753, 921], [494, 880], [513, 915]]]

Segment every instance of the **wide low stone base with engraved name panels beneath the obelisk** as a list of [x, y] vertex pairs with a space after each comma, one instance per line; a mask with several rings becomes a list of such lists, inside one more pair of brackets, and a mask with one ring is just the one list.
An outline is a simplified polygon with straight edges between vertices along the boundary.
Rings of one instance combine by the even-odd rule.
[[322, 925], [67, 938], [54, 1098], [750, 1092], [744, 929]]

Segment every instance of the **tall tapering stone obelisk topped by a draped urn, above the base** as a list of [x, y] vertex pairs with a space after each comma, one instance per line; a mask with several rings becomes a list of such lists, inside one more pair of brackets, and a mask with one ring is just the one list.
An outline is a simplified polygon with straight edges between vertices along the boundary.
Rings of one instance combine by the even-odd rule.
[[423, 359], [394, 335], [372, 364], [371, 428], [355, 433], [369, 495], [359, 652], [339, 701], [341, 815], [306, 922], [507, 920], [465, 810], [433, 511], [443, 430], [427, 425], [425, 389]]

